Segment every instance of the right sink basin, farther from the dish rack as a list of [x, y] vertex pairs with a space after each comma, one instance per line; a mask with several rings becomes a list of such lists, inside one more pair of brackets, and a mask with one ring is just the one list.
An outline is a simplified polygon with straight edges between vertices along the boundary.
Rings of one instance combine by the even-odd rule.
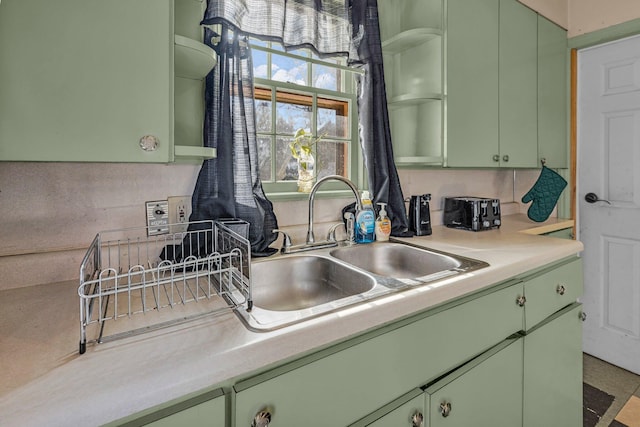
[[363, 270], [395, 279], [419, 279], [463, 268], [459, 258], [401, 243], [372, 243], [334, 249], [330, 255]]

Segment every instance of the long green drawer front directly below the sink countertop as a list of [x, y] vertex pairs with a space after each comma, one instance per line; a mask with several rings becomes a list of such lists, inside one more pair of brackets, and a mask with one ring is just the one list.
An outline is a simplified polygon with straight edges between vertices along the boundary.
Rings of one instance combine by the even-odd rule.
[[235, 386], [236, 424], [249, 426], [265, 408], [282, 426], [352, 423], [519, 331], [522, 309], [514, 302], [521, 292], [518, 283], [446, 305], [326, 357], [241, 382]]

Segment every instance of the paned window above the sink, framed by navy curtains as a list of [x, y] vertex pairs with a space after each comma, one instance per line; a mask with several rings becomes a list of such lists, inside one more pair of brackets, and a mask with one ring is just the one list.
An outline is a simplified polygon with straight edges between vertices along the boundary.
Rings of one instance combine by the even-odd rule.
[[359, 71], [343, 58], [320, 59], [306, 49], [285, 52], [276, 43], [253, 39], [251, 46], [265, 191], [270, 197], [297, 194], [298, 169], [289, 143], [300, 128], [323, 136], [314, 146], [316, 178], [335, 174], [354, 180], [360, 156], [353, 73]]

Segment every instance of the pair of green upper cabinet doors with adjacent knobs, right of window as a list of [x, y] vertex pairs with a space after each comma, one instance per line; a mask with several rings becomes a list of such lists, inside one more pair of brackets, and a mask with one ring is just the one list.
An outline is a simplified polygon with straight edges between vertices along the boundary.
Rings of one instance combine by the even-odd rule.
[[448, 0], [446, 166], [538, 164], [537, 14]]

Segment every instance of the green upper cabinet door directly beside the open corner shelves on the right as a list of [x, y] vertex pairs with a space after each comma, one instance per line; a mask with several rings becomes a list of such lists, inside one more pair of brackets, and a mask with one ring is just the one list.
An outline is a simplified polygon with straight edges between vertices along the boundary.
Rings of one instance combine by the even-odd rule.
[[498, 166], [498, 5], [447, 1], [446, 166]]

